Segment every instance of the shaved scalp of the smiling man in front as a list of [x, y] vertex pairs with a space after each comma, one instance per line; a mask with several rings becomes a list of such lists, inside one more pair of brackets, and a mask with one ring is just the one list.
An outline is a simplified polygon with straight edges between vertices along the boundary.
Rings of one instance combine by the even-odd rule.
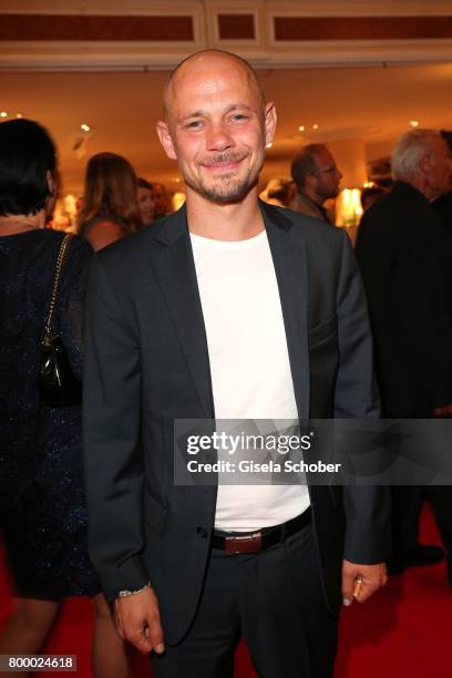
[[174, 88], [177, 84], [177, 80], [182, 75], [188, 72], [192, 68], [222, 68], [222, 65], [225, 64], [236, 64], [239, 69], [243, 70], [245, 78], [247, 78], [248, 80], [249, 86], [255, 90], [258, 97], [258, 102], [264, 112], [264, 90], [254, 68], [247, 61], [245, 61], [245, 59], [242, 59], [242, 56], [233, 54], [232, 52], [225, 52], [223, 50], [202, 50], [201, 52], [191, 54], [189, 56], [184, 59], [184, 61], [181, 61], [181, 63], [177, 64], [176, 68], [170, 73], [170, 76], [163, 90], [163, 110], [165, 113], [165, 120], [168, 122]]

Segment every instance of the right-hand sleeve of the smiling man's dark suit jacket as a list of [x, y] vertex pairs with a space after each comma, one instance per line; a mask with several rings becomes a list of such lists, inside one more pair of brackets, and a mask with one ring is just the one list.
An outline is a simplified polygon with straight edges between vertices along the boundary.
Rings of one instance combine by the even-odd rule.
[[[380, 405], [373, 374], [373, 348], [362, 282], [349, 239], [343, 235], [338, 286], [339, 370], [335, 418], [378, 418]], [[343, 557], [372, 564], [390, 554], [389, 487], [346, 485]]]

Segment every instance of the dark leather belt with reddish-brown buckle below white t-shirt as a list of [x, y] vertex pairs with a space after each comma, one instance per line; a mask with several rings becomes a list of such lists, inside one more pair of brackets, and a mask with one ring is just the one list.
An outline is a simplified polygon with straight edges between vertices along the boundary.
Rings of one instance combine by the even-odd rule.
[[263, 527], [263, 530], [250, 534], [235, 533], [234, 535], [227, 535], [227, 533], [214, 532], [212, 548], [219, 548], [229, 555], [260, 553], [270, 546], [282, 544], [289, 536], [309, 525], [311, 521], [312, 516], [309, 506], [301, 515], [297, 515], [295, 518], [287, 521], [287, 523], [282, 523], [282, 525]]

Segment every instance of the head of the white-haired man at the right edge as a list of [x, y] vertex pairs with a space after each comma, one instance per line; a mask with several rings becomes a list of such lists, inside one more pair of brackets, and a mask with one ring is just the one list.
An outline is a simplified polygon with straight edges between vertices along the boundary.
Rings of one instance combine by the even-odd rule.
[[441, 132], [412, 130], [392, 151], [392, 178], [407, 182], [432, 201], [452, 187], [452, 154]]

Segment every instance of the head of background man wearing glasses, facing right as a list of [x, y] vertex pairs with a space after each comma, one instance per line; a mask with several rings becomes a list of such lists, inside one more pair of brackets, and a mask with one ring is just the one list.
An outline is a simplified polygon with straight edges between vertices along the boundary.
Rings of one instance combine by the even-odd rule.
[[291, 175], [298, 192], [322, 205], [337, 197], [342, 174], [323, 144], [302, 146], [291, 164]]

